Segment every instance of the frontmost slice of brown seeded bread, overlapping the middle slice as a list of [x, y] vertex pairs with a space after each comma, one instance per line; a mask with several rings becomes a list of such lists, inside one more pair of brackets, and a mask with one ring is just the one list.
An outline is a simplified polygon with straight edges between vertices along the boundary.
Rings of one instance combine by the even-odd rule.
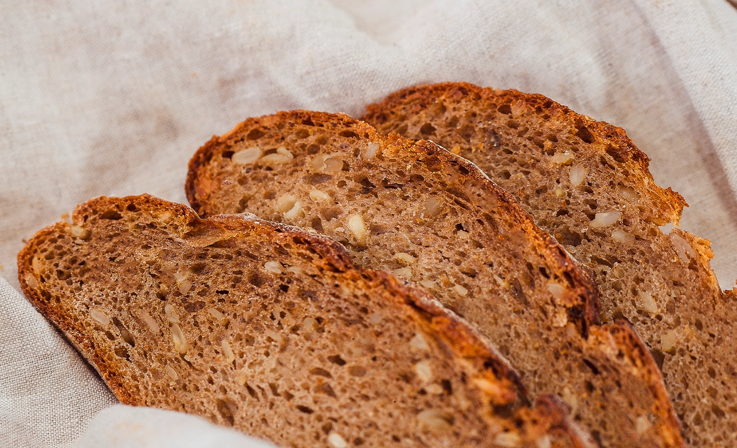
[[590, 446], [464, 321], [330, 238], [152, 196], [73, 220], [29, 241], [21, 285], [121, 402], [284, 447]]

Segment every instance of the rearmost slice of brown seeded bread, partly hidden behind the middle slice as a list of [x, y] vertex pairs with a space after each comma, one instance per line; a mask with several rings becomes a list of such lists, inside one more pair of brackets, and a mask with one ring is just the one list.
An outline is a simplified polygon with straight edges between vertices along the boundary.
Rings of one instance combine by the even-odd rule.
[[365, 119], [451, 148], [511, 192], [595, 271], [604, 321], [643, 336], [687, 441], [737, 446], [737, 301], [719, 288], [708, 241], [660, 228], [685, 202], [655, 185], [623, 129], [542, 95], [464, 83], [400, 90]]

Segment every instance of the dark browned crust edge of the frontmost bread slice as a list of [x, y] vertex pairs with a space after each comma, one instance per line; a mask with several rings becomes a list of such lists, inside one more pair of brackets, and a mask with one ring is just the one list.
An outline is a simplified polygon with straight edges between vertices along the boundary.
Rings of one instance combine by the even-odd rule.
[[[296, 227], [277, 224], [255, 216], [216, 216], [212, 219], [200, 219], [189, 207], [166, 202], [153, 196], [128, 196], [125, 198], [105, 198], [104, 196], [91, 199], [74, 210], [74, 225], [88, 224], [88, 218], [102, 213], [125, 214], [133, 213], [172, 213], [167, 222], [173, 223], [176, 234], [186, 235], [192, 240], [220, 241], [223, 238], [237, 236], [241, 232], [256, 235], [256, 238], [265, 238], [274, 243], [289, 241], [297, 244], [298, 249], [307, 253], [317, 253], [320, 268], [326, 272], [338, 274], [338, 278], [346, 281], [355, 281], [369, 286], [366, 291], [386, 291], [385, 299], [400, 304], [409, 305], [411, 313], [425, 324], [422, 327], [430, 330], [430, 334], [444, 344], [444, 350], [453, 359], [462, 358], [463, 362], [472, 366], [478, 372], [489, 372], [493, 377], [500, 378], [513, 386], [516, 391], [515, 408], [522, 412], [525, 421], [535, 422], [541, 427], [547, 427], [553, 435], [553, 446], [590, 447], [593, 446], [590, 437], [568, 421], [565, 404], [559, 403], [555, 397], [541, 396], [537, 400], [538, 406], [534, 410], [525, 410], [527, 402], [525, 391], [520, 377], [509, 362], [502, 358], [475, 330], [472, 330], [462, 319], [442, 307], [432, 296], [422, 290], [413, 288], [407, 282], [397, 280], [384, 271], [371, 269], [357, 269], [352, 260], [337, 241], [324, 235], [304, 232]], [[97, 231], [94, 224], [90, 224], [93, 232]], [[38, 252], [46, 237], [57, 235], [60, 232], [72, 235], [74, 230], [66, 222], [60, 222], [38, 232], [27, 246], [18, 254], [18, 278], [21, 288], [30, 302], [59, 328], [65, 337], [73, 344], [99, 372], [116, 397], [128, 405], [147, 405], [143, 397], [136, 395], [136, 385], [125, 383], [119, 375], [120, 369], [126, 366], [111, 366], [99, 355], [98, 349], [91, 336], [80, 330], [79, 322], [75, 322], [70, 313], [63, 313], [52, 304], [52, 294], [47, 291], [36, 277], [33, 266], [33, 257]], [[220, 240], [218, 240], [220, 238]], [[313, 260], [315, 260], [313, 258]], [[29, 280], [35, 282], [30, 285]], [[405, 308], [406, 309], [406, 308]], [[125, 336], [124, 336], [125, 338]], [[227, 413], [227, 412], [226, 412]], [[217, 421], [216, 421], [217, 422]], [[217, 422], [223, 424], [223, 422]], [[226, 422], [227, 423], [227, 422]], [[231, 417], [232, 424], [232, 417]], [[526, 445], [525, 445], [526, 446]]]

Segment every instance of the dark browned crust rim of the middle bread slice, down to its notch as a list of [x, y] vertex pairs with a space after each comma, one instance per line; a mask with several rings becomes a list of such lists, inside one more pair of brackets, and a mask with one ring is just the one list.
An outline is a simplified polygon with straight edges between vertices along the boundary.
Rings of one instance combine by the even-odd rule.
[[[486, 188], [497, 197], [497, 206], [503, 208], [506, 213], [506, 217], [514, 220], [515, 224], [519, 225], [524, 232], [531, 235], [531, 239], [537, 244], [540, 253], [544, 253], [553, 258], [553, 260], [556, 260], [556, 263], [562, 267], [567, 276], [570, 276], [571, 282], [576, 285], [579, 299], [579, 303], [573, 305], [581, 305], [583, 308], [584, 333], [587, 326], [599, 323], [598, 298], [601, 294], [593, 280], [593, 274], [590, 269], [587, 266], [578, 263], [573, 259], [573, 257], [570, 257], [566, 250], [551, 238], [551, 235], [548, 234], [548, 232], [540, 230], [539, 227], [534, 224], [532, 217], [517, 204], [514, 197], [496, 185], [495, 182], [492, 182], [492, 180], [489, 179], [483, 171], [478, 169], [477, 166], [463, 157], [458, 157], [455, 154], [447, 152], [444, 148], [432, 141], [411, 141], [398, 134], [390, 134], [388, 137], [383, 137], [377, 133], [377, 130], [374, 129], [374, 127], [371, 127], [363, 121], [351, 118], [349, 115], [340, 113], [331, 114], [312, 112], [309, 110], [279, 112], [274, 115], [248, 118], [222, 137], [214, 136], [210, 141], [205, 143], [204, 146], [198, 149], [189, 161], [185, 193], [189, 204], [192, 205], [192, 208], [194, 208], [200, 216], [205, 217], [218, 213], [213, 210], [213, 207], [208, 205], [204, 197], [209, 194], [209, 191], [211, 191], [211, 187], [213, 186], [205, 185], [206, 179], [203, 179], [201, 176], [203, 170], [206, 168], [209, 161], [212, 160], [214, 154], [222, 153], [225, 149], [233, 146], [235, 143], [248, 138], [248, 135], [260, 136], [265, 132], [264, 129], [283, 126], [284, 123], [290, 122], [309, 124], [310, 126], [317, 127], [346, 127], [357, 135], [363, 135], [366, 138], [368, 138], [368, 136], [371, 136], [371, 138], [385, 138], [385, 143], [383, 143], [385, 145], [394, 144], [402, 147], [402, 149], [408, 149], [418, 156], [427, 155], [429, 157], [437, 157], [440, 163], [446, 163], [450, 166], [461, 168], [465, 173], [467, 173], [467, 177], [475, 179], [483, 186], [483, 188]], [[249, 131], [248, 135], [242, 136], [241, 134], [245, 129], [251, 129], [251, 131]]]

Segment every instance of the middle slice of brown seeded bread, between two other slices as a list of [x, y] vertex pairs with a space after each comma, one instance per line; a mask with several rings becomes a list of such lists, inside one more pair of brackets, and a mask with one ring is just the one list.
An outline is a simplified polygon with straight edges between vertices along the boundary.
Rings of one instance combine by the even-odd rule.
[[605, 447], [680, 446], [657, 366], [624, 323], [595, 326], [591, 277], [467, 160], [347, 115], [249, 118], [189, 164], [198, 213], [284, 221], [338, 239], [465, 316]]

